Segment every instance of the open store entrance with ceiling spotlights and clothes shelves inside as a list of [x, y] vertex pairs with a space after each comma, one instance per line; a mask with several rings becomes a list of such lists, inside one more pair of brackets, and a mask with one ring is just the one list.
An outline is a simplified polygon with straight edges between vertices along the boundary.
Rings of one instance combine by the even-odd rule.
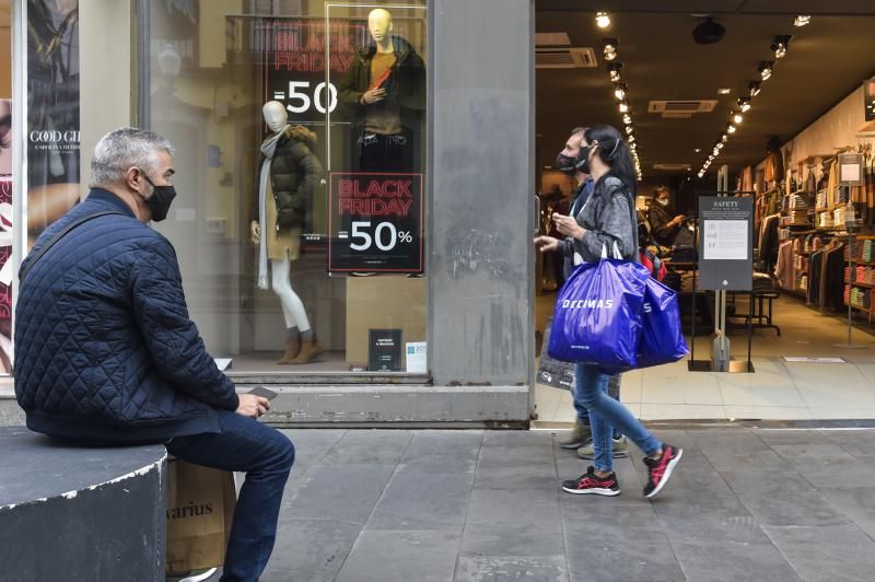
[[[734, 359], [747, 357], [754, 314], [756, 373], [696, 373], [682, 361], [625, 374], [621, 399], [648, 420], [873, 418], [875, 10], [598, 18], [588, 4], [537, 4], [541, 232], [580, 186], [556, 164], [574, 129], [620, 129], [641, 170], [640, 231], [668, 266], [696, 358], [708, 359], [714, 301], [695, 293], [698, 200], [716, 194], [726, 166], [730, 196], [756, 208], [752, 305], [749, 293], [728, 305]], [[563, 273], [561, 257], [536, 260], [540, 349]], [[837, 347], [849, 303], [852, 341], [867, 348]], [[573, 421], [570, 393], [547, 384], [539, 374], [538, 421]]]

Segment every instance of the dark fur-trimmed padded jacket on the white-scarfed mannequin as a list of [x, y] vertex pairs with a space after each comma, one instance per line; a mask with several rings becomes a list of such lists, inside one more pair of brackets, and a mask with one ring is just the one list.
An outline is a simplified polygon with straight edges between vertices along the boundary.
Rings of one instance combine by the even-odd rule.
[[[289, 126], [277, 143], [270, 160], [270, 183], [277, 201], [277, 228], [306, 228], [316, 186], [324, 175], [313, 153], [316, 133], [303, 126]], [[259, 165], [256, 175], [260, 176]], [[249, 219], [258, 220], [258, 188], [249, 209]]]

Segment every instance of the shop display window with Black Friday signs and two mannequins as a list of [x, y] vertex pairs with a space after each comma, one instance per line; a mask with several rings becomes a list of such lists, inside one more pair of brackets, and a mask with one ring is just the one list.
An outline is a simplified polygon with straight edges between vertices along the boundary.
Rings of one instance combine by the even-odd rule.
[[[424, 373], [424, 3], [153, 2], [150, 28], [179, 193], [156, 229], [208, 349], [232, 374]], [[287, 363], [308, 330], [323, 351]]]

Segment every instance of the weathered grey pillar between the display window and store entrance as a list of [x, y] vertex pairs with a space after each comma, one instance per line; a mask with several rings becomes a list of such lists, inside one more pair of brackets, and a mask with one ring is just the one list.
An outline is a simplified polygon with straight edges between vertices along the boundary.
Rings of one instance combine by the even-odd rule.
[[528, 385], [534, 11], [434, 0], [430, 366], [438, 385]]

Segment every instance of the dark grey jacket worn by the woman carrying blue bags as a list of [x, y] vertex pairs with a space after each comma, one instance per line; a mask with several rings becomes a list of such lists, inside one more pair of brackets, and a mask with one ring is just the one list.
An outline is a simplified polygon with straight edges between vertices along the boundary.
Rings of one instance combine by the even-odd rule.
[[583, 241], [571, 236], [559, 241], [559, 252], [572, 259], [565, 261], [565, 277], [574, 270], [574, 253], [580, 254], [585, 263], [593, 263], [602, 258], [602, 248], [605, 247], [612, 258], [615, 242], [622, 258], [638, 263], [634, 198], [619, 178], [610, 174], [602, 176], [575, 218], [586, 233]]

